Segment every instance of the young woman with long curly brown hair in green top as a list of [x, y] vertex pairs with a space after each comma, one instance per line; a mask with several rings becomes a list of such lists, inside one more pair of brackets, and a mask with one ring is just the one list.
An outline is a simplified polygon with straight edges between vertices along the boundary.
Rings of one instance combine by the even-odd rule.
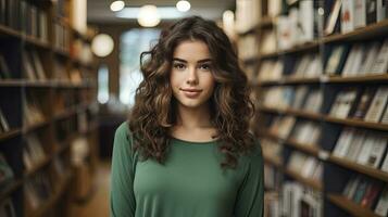
[[227, 36], [184, 18], [140, 62], [143, 81], [114, 139], [111, 216], [263, 216], [254, 107]]

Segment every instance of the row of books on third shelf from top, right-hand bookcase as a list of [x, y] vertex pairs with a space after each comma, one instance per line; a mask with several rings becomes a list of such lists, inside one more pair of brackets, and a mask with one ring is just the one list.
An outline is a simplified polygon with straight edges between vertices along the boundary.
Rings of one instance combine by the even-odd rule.
[[[267, 88], [261, 95], [262, 105], [275, 108], [293, 108], [321, 113], [323, 91], [306, 86]], [[370, 123], [388, 123], [388, 87], [343, 88], [329, 103], [328, 115], [338, 118], [362, 119]]]

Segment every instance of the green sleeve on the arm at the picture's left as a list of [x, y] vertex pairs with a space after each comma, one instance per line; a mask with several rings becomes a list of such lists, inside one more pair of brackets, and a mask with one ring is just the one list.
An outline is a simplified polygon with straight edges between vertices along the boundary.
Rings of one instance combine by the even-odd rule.
[[126, 123], [122, 124], [114, 136], [110, 194], [111, 217], [135, 216], [133, 151], [126, 125]]

